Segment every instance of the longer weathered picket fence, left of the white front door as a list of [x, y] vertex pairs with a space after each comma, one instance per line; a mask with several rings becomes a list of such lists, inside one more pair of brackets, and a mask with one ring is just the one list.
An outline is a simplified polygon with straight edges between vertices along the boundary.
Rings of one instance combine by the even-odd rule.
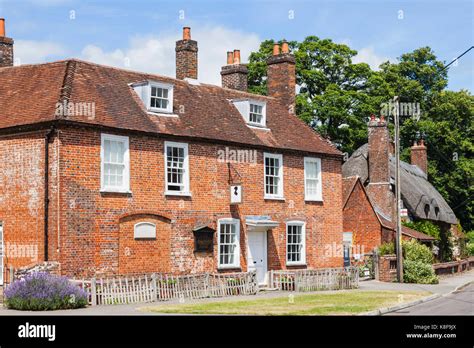
[[255, 272], [151, 274], [136, 277], [72, 280], [72, 282], [86, 291], [91, 305], [255, 295], [258, 291]]

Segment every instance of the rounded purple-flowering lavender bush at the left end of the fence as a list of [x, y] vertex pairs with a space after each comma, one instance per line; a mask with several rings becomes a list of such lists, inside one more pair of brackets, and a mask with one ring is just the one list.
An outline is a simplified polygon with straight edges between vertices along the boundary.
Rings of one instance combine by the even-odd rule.
[[87, 294], [66, 277], [37, 272], [5, 289], [7, 308], [30, 311], [73, 309], [87, 305]]

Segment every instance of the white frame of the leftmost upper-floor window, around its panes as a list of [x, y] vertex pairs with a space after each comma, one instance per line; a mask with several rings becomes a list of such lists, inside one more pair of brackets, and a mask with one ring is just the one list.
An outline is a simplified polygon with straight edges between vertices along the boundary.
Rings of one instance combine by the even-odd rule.
[[[124, 143], [124, 172], [122, 186], [105, 185], [105, 141], [116, 141]], [[106, 134], [100, 135], [100, 191], [101, 192], [117, 192], [130, 193], [130, 139], [128, 136]]]

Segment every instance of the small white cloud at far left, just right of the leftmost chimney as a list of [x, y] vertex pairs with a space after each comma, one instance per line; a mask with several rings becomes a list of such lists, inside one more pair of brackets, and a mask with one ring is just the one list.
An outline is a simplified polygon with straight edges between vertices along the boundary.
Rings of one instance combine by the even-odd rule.
[[51, 41], [15, 41], [15, 65], [51, 61], [51, 57], [64, 56], [66, 49]]

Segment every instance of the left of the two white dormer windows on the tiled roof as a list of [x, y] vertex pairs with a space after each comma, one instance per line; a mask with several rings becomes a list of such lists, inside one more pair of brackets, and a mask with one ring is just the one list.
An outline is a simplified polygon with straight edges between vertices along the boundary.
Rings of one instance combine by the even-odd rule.
[[145, 81], [132, 85], [149, 112], [171, 114], [173, 112], [173, 85], [157, 81]]

